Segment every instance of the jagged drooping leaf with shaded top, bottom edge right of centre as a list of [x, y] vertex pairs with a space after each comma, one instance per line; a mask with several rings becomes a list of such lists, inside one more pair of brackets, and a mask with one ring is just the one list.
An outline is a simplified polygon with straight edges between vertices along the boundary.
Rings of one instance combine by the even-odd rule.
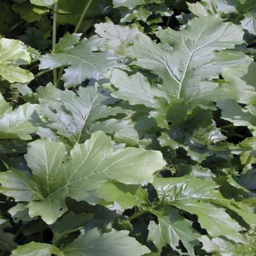
[[193, 246], [198, 245], [200, 234], [192, 229], [192, 222], [179, 215], [179, 210], [172, 206], [161, 206], [153, 210], [154, 215], [158, 216], [158, 224], [151, 221], [149, 223], [148, 240], [153, 241], [156, 248], [161, 251], [163, 246], [170, 245], [173, 250], [177, 250], [179, 241], [181, 241], [188, 250], [189, 254], [194, 256]]

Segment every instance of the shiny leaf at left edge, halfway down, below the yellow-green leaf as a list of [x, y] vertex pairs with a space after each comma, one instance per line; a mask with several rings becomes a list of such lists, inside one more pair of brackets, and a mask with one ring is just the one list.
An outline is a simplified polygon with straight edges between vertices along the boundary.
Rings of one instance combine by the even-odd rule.
[[33, 125], [33, 114], [39, 106], [26, 103], [20, 105], [18, 109], [12, 110], [2, 94], [0, 94], [0, 106], [0, 138], [30, 140], [31, 135], [29, 134], [36, 132], [36, 126]]

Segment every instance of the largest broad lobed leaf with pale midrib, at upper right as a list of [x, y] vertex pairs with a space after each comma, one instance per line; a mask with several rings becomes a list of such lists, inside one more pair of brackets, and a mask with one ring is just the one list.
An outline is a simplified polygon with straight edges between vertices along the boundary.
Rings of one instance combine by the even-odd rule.
[[223, 66], [245, 57], [223, 51], [243, 43], [241, 27], [215, 16], [190, 20], [183, 31], [163, 29], [157, 36], [169, 50], [139, 34], [128, 55], [163, 79], [162, 91], [186, 102], [212, 102], [222, 96], [220, 88], [206, 79], [218, 79]]

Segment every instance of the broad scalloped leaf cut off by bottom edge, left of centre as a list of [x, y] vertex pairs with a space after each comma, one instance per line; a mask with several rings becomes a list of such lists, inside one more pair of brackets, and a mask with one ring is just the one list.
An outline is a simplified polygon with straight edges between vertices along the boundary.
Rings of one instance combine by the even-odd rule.
[[140, 256], [150, 252], [128, 234], [126, 230], [112, 230], [107, 234], [100, 234], [97, 229], [93, 229], [79, 236], [62, 252], [65, 256]]

